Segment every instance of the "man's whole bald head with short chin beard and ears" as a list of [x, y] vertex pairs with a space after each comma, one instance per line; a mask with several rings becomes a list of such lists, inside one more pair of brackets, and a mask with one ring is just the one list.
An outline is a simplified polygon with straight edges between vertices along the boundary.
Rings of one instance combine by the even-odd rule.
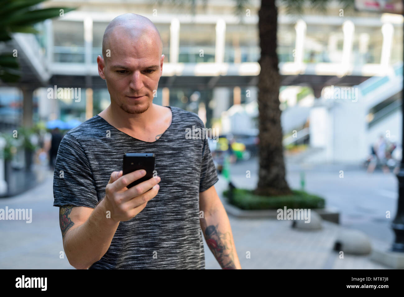
[[[111, 105], [127, 113], [143, 113], [153, 102], [162, 74], [163, 44], [146, 17], [126, 13], [113, 19], [103, 36], [98, 73], [107, 83]], [[141, 98], [133, 98], [143, 96]]]

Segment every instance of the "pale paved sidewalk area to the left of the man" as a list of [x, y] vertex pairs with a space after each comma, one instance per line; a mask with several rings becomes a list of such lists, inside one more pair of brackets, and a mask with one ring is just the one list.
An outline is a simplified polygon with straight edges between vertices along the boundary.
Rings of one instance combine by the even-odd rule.
[[0, 269], [75, 269], [63, 252], [59, 207], [53, 206], [53, 172], [35, 188], [0, 199], [0, 208], [32, 209], [32, 222], [0, 221]]

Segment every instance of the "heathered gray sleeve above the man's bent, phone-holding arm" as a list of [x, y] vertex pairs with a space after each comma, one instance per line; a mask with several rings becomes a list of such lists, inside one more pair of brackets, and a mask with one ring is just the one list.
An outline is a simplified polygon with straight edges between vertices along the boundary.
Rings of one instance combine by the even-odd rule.
[[97, 190], [87, 156], [70, 134], [63, 137], [53, 173], [53, 206], [76, 205], [95, 208]]

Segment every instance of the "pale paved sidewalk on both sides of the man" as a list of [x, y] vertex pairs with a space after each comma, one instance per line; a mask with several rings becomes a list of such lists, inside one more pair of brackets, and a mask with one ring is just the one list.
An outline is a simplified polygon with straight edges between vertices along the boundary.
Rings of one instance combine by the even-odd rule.
[[[32, 223], [0, 221], [0, 269], [74, 269], [63, 251], [59, 229], [59, 208], [53, 207], [51, 172], [44, 182], [11, 198], [0, 199], [0, 208], [32, 208]], [[215, 185], [219, 195], [227, 186], [220, 177]], [[369, 256], [344, 255], [332, 251], [341, 226], [324, 222], [321, 231], [303, 232], [290, 228], [290, 221], [236, 219], [229, 217], [236, 249], [243, 269], [383, 269]], [[384, 245], [388, 244], [375, 243]], [[220, 269], [204, 242], [206, 269]], [[246, 253], [250, 252], [250, 259]]]

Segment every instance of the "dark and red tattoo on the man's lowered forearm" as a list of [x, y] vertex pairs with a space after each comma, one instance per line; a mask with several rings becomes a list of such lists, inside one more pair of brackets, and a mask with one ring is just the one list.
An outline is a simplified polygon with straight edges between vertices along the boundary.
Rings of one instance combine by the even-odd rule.
[[229, 232], [221, 233], [217, 226], [208, 226], [205, 229], [206, 243], [210, 251], [223, 269], [236, 269], [234, 264], [234, 251]]

